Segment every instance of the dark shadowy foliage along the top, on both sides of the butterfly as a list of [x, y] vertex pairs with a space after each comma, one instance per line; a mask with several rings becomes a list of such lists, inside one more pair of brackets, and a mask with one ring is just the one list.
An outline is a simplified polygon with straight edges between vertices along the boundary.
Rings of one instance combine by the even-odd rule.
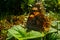
[[[20, 15], [29, 13], [31, 7], [36, 3], [36, 0], [0, 0], [0, 19], [10, 15]], [[42, 0], [47, 12], [53, 11], [59, 13], [59, 0]]]

